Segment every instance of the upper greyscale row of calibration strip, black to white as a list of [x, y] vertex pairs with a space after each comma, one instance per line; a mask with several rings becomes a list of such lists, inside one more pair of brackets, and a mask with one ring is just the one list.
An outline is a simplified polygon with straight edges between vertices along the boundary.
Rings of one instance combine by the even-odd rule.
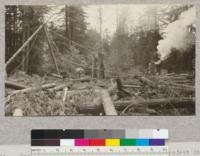
[[116, 138], [148, 138], [168, 139], [166, 129], [144, 130], [32, 130], [31, 139], [116, 139]]

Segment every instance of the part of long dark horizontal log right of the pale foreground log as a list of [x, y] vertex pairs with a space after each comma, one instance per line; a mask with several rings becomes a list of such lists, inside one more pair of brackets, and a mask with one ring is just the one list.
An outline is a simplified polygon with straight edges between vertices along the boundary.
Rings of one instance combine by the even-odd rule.
[[149, 100], [128, 100], [128, 101], [116, 101], [115, 107], [117, 110], [123, 110], [128, 105], [132, 104], [133, 107], [146, 106], [149, 108], [159, 108], [165, 106], [165, 108], [192, 108], [195, 106], [195, 98], [162, 98], [162, 99], [149, 99]]

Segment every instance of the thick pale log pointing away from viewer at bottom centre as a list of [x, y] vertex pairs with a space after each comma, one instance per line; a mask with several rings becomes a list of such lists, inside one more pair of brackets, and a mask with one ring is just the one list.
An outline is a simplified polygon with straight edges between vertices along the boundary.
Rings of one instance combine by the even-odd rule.
[[102, 89], [100, 91], [100, 94], [102, 98], [102, 104], [103, 104], [105, 115], [117, 115], [117, 111], [112, 102], [112, 99], [110, 98], [108, 91], [105, 89]]

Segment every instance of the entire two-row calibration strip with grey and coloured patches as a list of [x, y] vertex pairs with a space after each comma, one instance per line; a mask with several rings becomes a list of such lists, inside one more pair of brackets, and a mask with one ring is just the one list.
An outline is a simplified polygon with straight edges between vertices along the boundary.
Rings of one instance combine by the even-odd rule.
[[167, 130], [32, 130], [32, 146], [165, 146]]

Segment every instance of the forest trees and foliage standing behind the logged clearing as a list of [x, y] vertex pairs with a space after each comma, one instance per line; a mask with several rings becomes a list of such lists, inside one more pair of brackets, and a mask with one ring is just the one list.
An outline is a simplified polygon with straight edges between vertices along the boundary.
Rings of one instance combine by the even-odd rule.
[[[129, 26], [127, 15], [123, 12], [117, 19], [117, 28], [113, 36], [109, 36], [104, 30], [104, 38], [93, 29], [89, 29], [86, 23], [86, 14], [82, 6], [65, 5], [58, 15], [64, 15], [61, 26], [56, 26], [52, 22], [48, 25], [58, 53], [56, 59], [61, 71], [73, 72], [77, 64], [91, 67], [92, 56], [98, 59], [98, 52], [101, 48], [101, 40], [104, 52], [104, 64], [109, 71], [116, 73], [127, 73], [136, 66], [147, 69], [150, 62], [159, 59], [157, 46], [163, 36], [163, 28], [176, 21], [179, 15], [188, 10], [192, 5], [175, 5], [160, 9], [155, 14], [155, 8], [144, 11], [141, 19], [155, 19], [151, 24], [139, 22], [139, 25]], [[44, 16], [50, 12], [50, 6], [6, 6], [6, 61], [17, 51], [19, 47], [30, 37], [35, 30], [44, 23]], [[155, 22], [155, 23], [154, 23]], [[131, 27], [131, 31], [129, 30]], [[56, 35], [57, 34], [57, 35]], [[24, 54], [27, 52], [32, 42], [24, 49], [21, 55], [9, 66], [8, 72], [13, 71], [17, 66], [22, 70], [32, 74], [44, 74], [55, 72], [54, 63], [49, 53], [45, 34], [41, 31], [38, 35], [35, 46], [33, 46], [28, 57], [28, 67], [23, 61]], [[169, 71], [192, 70], [192, 59], [194, 59], [194, 45], [183, 52], [172, 49], [170, 56], [162, 62], [162, 67]], [[191, 58], [191, 59], [188, 59]]]

